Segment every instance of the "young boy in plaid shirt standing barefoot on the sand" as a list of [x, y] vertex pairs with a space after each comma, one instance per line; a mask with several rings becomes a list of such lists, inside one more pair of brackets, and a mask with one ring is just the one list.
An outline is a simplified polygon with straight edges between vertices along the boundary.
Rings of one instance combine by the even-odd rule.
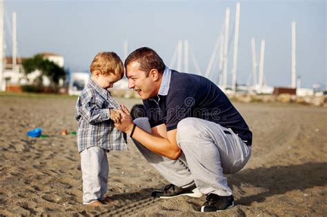
[[91, 79], [77, 99], [77, 146], [81, 154], [83, 204], [102, 206], [108, 202], [106, 152], [126, 149], [126, 134], [115, 128], [120, 106], [107, 88], [123, 77], [123, 63], [114, 52], [100, 52], [90, 65]]

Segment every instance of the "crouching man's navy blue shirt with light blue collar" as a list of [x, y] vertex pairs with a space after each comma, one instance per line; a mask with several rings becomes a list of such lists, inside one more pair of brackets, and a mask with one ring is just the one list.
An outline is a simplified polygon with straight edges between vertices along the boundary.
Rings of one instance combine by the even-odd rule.
[[150, 126], [175, 130], [184, 118], [201, 118], [232, 129], [248, 145], [252, 132], [244, 118], [215, 83], [203, 76], [165, 69], [158, 96], [143, 100]]

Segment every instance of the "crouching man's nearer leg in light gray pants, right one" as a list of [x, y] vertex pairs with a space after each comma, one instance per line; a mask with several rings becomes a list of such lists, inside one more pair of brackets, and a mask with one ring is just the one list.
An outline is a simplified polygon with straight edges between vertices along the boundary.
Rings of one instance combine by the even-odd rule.
[[223, 172], [235, 173], [244, 167], [250, 158], [250, 146], [232, 130], [199, 118], [179, 122], [177, 144], [202, 194], [232, 195]]

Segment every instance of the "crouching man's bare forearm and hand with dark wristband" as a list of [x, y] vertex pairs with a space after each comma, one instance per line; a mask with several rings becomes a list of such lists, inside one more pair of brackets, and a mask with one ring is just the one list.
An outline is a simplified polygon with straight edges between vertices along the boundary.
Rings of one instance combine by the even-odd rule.
[[[121, 112], [121, 123], [115, 124], [118, 130], [130, 134], [134, 123], [130, 114], [125, 106], [121, 106], [123, 112]], [[177, 130], [166, 131], [166, 125], [161, 124], [156, 127], [152, 127], [152, 134], [142, 130], [140, 127], [135, 127], [135, 131], [132, 134], [132, 138], [141, 143], [150, 151], [166, 156], [172, 160], [176, 160], [181, 156], [181, 149], [177, 145], [176, 140]]]

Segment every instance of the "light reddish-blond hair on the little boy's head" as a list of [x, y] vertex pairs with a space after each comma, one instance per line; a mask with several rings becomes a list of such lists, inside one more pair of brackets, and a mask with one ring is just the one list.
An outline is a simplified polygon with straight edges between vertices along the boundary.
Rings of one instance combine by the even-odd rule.
[[104, 76], [123, 74], [123, 62], [115, 52], [99, 52], [90, 65], [91, 74], [96, 70]]

